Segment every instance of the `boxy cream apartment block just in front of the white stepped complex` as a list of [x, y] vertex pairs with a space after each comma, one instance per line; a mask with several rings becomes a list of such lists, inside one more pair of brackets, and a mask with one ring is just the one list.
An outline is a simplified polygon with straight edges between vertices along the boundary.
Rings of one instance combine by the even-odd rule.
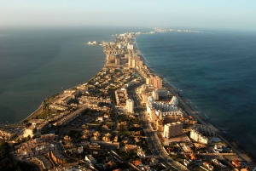
[[169, 139], [180, 134], [183, 134], [183, 123], [177, 122], [165, 124], [163, 137]]

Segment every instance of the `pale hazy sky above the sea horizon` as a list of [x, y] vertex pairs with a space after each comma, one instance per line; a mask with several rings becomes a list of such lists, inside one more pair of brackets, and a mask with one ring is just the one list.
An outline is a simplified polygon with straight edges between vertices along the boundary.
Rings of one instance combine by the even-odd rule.
[[0, 28], [9, 26], [159, 26], [256, 31], [256, 1], [0, 0]]

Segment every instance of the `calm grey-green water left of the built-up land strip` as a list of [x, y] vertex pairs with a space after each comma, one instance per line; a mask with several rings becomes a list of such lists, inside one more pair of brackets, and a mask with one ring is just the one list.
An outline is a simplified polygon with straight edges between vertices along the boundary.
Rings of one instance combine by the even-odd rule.
[[0, 123], [16, 123], [52, 94], [83, 83], [102, 69], [105, 54], [88, 41], [113, 41], [129, 28], [0, 30]]

